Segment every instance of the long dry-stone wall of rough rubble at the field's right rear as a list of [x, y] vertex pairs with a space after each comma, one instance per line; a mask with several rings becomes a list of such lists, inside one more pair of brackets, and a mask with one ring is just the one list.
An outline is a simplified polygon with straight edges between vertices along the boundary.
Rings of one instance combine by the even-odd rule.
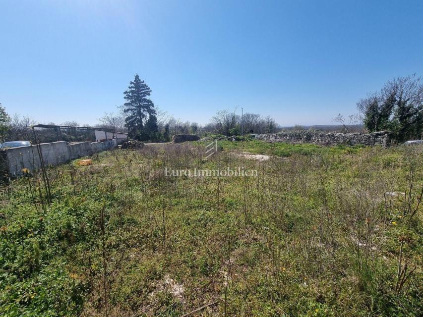
[[388, 146], [389, 137], [387, 131], [373, 133], [335, 133], [324, 131], [288, 131], [279, 133], [259, 134], [256, 140], [265, 142], [285, 142], [293, 144], [312, 143], [317, 145], [367, 145], [382, 147]]

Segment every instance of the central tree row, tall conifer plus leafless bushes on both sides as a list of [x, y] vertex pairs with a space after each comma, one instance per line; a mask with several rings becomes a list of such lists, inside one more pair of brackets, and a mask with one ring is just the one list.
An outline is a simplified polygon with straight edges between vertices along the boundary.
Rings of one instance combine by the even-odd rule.
[[256, 113], [244, 113], [220, 110], [209, 124], [204, 126], [196, 122], [182, 122], [161, 111], [150, 99], [151, 89], [141, 80], [138, 74], [129, 83], [123, 93], [125, 103], [119, 107], [118, 113], [105, 113], [100, 118], [104, 126], [116, 130], [126, 128], [129, 136], [140, 141], [169, 141], [175, 134], [206, 134], [239, 135], [241, 133], [272, 133], [277, 132], [276, 121]]

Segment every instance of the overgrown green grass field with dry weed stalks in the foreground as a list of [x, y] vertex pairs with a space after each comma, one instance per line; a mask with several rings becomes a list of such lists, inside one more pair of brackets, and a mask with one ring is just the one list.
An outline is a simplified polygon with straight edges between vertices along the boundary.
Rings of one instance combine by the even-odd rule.
[[[2, 187], [0, 316], [422, 316], [422, 147], [220, 146]], [[228, 166], [258, 176], [164, 171]]]

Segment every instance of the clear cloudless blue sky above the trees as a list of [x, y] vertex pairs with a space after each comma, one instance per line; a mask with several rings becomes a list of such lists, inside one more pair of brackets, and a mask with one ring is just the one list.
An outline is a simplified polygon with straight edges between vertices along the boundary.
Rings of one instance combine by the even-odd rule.
[[387, 80], [423, 75], [423, 1], [0, 1], [8, 113], [94, 124], [135, 73], [182, 120], [240, 106], [331, 124]]

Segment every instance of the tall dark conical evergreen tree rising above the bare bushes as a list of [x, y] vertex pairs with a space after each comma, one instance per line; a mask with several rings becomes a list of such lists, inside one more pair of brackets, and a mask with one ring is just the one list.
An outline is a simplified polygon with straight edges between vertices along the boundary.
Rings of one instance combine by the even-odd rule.
[[147, 117], [156, 114], [154, 104], [149, 98], [151, 89], [144, 80], [139, 79], [138, 74], [135, 74], [134, 80], [129, 83], [123, 95], [126, 100], [123, 104], [123, 112], [126, 114], [125, 126], [130, 137], [140, 139], [146, 133], [144, 122]]

